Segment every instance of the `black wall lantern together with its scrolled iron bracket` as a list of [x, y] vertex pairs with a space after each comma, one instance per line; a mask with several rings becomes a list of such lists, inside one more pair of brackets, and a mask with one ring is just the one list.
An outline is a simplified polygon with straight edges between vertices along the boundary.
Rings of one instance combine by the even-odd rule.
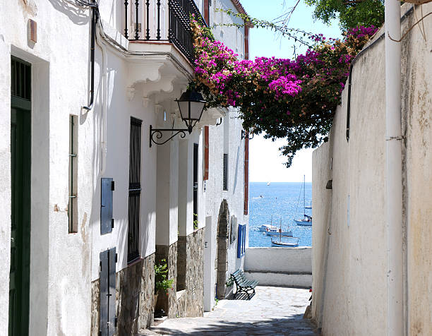
[[[178, 100], [176, 100], [176, 102], [179, 105], [181, 120], [185, 122], [187, 128], [152, 128], [152, 125], [150, 125], [150, 147], [152, 147], [152, 143], [155, 143], [156, 145], [163, 145], [174, 138], [174, 136], [177, 134], [180, 134], [181, 138], [185, 138], [186, 132], [191, 134], [193, 127], [196, 125], [196, 123], [198, 123], [198, 121], [200, 121], [205, 108], [205, 100], [203, 99], [203, 95], [201, 95], [200, 92], [188, 89]], [[175, 133], [162, 141], [162, 132]]]

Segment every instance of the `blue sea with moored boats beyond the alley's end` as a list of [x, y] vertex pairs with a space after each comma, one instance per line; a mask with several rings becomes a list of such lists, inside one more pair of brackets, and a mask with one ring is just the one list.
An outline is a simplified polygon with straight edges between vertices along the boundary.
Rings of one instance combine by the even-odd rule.
[[[272, 182], [270, 186], [261, 182], [249, 184], [250, 247], [272, 246], [270, 236], [256, 230], [262, 224], [270, 224], [270, 220], [273, 225], [280, 227], [281, 219], [282, 231], [292, 230], [293, 236], [299, 237], [299, 246], [312, 246], [312, 227], [301, 227], [293, 221], [294, 218], [303, 218], [302, 186], [303, 182]], [[312, 184], [306, 183], [305, 190], [306, 205], [311, 205]], [[306, 215], [311, 215], [311, 212], [312, 210], [306, 210]]]

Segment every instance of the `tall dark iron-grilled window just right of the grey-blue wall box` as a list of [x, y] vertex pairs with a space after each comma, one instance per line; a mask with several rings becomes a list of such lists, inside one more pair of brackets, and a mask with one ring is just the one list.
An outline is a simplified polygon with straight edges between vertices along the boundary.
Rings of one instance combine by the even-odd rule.
[[129, 205], [128, 205], [128, 262], [136, 260], [139, 252], [140, 227], [140, 167], [141, 124], [143, 121], [131, 117], [129, 147]]

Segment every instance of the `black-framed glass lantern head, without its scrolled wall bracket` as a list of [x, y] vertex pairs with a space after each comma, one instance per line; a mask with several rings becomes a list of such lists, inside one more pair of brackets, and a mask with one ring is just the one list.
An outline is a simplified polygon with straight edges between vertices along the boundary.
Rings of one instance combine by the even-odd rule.
[[203, 95], [196, 90], [186, 90], [181, 97], [176, 100], [179, 104], [181, 119], [185, 122], [188, 132], [192, 133], [192, 128], [200, 121], [205, 107]]

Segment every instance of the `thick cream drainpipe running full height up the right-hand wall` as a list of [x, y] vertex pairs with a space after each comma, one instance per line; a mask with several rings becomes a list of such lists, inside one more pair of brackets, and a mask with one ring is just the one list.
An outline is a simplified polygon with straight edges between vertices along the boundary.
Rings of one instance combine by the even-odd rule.
[[388, 234], [387, 335], [404, 335], [400, 1], [385, 0], [385, 153]]

